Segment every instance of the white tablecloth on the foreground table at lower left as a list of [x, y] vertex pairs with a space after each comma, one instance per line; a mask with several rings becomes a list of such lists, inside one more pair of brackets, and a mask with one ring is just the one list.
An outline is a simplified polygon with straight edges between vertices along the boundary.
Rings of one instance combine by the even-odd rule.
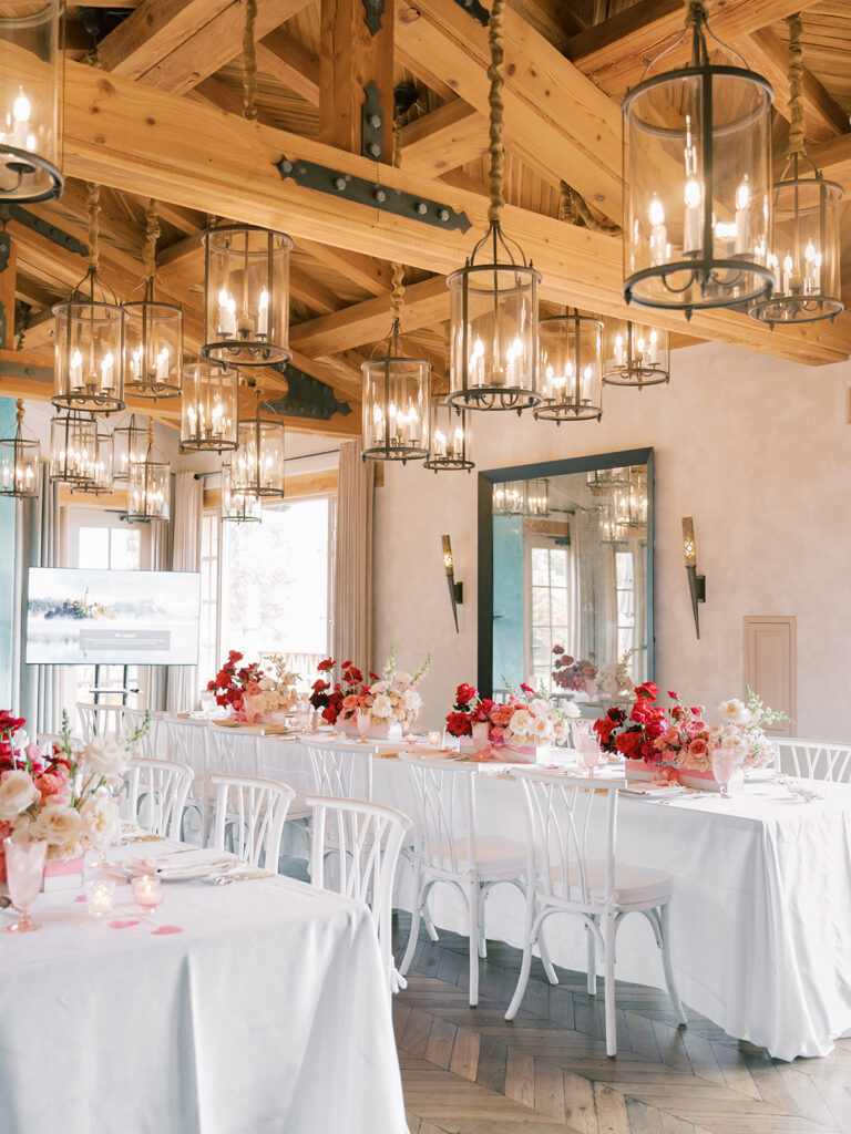
[[0, 934], [2, 1134], [407, 1131], [364, 906], [277, 878], [163, 889], [185, 932], [60, 891], [40, 932]]

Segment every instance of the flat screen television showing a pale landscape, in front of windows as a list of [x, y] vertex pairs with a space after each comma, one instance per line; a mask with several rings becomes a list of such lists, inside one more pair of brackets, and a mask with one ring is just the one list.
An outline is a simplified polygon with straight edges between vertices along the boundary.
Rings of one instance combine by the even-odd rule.
[[31, 567], [26, 661], [47, 666], [196, 666], [197, 572]]

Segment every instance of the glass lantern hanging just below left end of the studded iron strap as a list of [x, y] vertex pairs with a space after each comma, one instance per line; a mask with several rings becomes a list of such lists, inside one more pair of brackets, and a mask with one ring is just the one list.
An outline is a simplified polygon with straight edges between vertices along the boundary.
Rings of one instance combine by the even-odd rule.
[[[245, 5], [244, 117], [256, 111], [254, 22], [256, 0]], [[231, 366], [289, 362], [289, 252], [284, 232], [247, 225], [211, 227], [204, 234], [204, 345], [202, 358]]]

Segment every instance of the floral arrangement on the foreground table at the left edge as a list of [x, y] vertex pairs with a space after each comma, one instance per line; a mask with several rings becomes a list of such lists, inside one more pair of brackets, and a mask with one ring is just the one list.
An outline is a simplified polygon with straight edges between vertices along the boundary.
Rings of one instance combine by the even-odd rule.
[[120, 782], [135, 745], [146, 735], [150, 713], [129, 736], [106, 735], [78, 747], [64, 712], [61, 741], [51, 753], [27, 743], [25, 725], [23, 717], [0, 711], [0, 839], [45, 839], [49, 863], [106, 849], [121, 828], [110, 789]]

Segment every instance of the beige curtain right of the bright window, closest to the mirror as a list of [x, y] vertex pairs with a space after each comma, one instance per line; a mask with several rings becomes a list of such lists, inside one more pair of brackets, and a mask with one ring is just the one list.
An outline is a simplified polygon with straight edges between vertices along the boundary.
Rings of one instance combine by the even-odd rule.
[[372, 507], [376, 469], [361, 459], [357, 441], [339, 450], [337, 540], [334, 564], [334, 629], [338, 662], [372, 666]]

